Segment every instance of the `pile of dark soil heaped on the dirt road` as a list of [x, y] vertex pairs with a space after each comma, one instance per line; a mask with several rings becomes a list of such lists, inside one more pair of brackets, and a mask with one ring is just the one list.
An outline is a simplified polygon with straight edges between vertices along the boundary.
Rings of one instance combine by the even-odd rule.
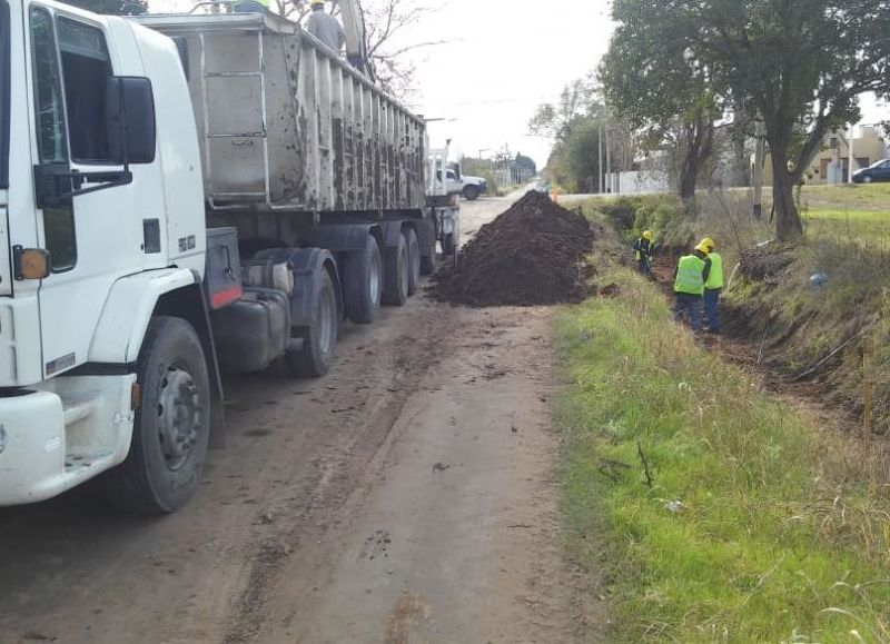
[[595, 236], [581, 215], [528, 192], [479, 229], [456, 268], [436, 275], [433, 295], [477, 307], [581, 301], [591, 274], [583, 258]]

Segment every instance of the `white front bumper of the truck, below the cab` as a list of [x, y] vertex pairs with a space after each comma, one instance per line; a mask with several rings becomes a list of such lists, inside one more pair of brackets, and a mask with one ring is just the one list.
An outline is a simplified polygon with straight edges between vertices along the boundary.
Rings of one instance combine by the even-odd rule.
[[67, 378], [63, 392], [0, 397], [0, 506], [51, 498], [121, 463], [132, 437], [135, 380]]

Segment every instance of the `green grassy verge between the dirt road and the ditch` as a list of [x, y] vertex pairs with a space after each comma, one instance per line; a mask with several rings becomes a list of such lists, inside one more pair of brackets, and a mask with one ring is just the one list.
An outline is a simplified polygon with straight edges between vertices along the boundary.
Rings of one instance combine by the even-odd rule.
[[873, 450], [696, 347], [636, 275], [600, 279], [619, 296], [565, 309], [556, 337], [571, 548], [610, 583], [607, 641], [890, 641]]

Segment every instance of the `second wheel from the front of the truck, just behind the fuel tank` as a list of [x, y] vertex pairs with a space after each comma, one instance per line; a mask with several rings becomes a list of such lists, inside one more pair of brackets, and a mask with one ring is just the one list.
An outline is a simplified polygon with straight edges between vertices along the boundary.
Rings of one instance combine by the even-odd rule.
[[334, 364], [339, 326], [339, 307], [334, 280], [330, 274], [323, 269], [318, 306], [313, 313], [313, 326], [303, 335], [303, 348], [285, 354], [285, 361], [290, 373], [300, 378], [317, 378], [327, 374]]

